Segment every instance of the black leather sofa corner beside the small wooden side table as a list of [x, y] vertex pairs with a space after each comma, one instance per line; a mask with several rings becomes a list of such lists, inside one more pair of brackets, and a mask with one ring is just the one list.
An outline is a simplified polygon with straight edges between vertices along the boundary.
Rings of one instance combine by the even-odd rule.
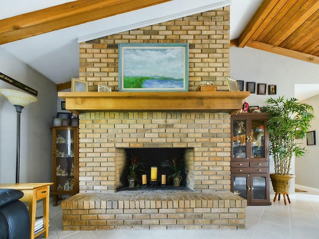
[[0, 189], [0, 239], [30, 239], [30, 216], [19, 201], [23, 193], [14, 189]]

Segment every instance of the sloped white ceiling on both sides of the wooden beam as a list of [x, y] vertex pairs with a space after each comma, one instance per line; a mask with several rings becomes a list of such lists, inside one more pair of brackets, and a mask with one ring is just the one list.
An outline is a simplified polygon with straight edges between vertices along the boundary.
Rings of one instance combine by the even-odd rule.
[[[0, 19], [74, 0], [1, 2]], [[1, 45], [55, 84], [79, 75], [78, 43], [230, 5], [230, 39], [238, 38], [262, 0], [173, 0]], [[2, 70], [2, 73], [5, 72]], [[317, 93], [318, 94], [318, 93]], [[309, 94], [308, 94], [309, 96]]]

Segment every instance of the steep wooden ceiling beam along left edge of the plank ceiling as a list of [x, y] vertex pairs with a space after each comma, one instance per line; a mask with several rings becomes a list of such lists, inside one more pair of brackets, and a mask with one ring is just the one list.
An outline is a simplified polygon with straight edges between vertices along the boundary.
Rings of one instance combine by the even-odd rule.
[[238, 40], [238, 47], [244, 47], [247, 42], [251, 39], [255, 31], [258, 29], [260, 24], [263, 23], [264, 19], [268, 16], [271, 10], [276, 6], [278, 0], [264, 0], [254, 16], [251, 18], [243, 32], [240, 34]]

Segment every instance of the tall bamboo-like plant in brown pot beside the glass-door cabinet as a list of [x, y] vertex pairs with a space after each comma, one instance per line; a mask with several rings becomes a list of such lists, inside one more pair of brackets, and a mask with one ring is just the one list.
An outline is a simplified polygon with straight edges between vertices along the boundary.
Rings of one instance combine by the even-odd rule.
[[310, 122], [315, 119], [314, 108], [298, 102], [296, 98], [270, 98], [266, 104], [262, 111], [269, 113], [269, 153], [273, 155], [275, 164], [275, 173], [271, 173], [270, 178], [276, 196], [284, 194], [285, 199], [290, 191], [291, 179], [295, 177], [289, 173], [292, 158], [301, 157], [307, 152], [295, 139], [306, 137]]

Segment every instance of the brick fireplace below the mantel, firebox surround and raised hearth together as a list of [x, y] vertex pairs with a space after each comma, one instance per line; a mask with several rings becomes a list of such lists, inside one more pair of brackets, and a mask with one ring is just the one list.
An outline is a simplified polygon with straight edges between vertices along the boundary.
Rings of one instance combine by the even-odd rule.
[[[62, 202], [64, 230], [243, 229], [230, 193], [230, 117], [222, 113], [94, 112], [80, 116], [80, 194]], [[186, 148], [189, 191], [116, 192], [125, 148]]]

